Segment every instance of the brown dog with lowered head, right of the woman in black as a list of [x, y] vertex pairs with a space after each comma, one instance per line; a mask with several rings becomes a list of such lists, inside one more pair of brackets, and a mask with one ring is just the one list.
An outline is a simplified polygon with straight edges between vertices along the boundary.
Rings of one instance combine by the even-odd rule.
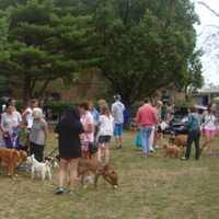
[[78, 176], [81, 177], [81, 184], [85, 187], [88, 184], [94, 184], [97, 187], [100, 176], [110, 183], [113, 188], [118, 187], [118, 175], [110, 164], [101, 164], [96, 159], [80, 159], [78, 165]]

